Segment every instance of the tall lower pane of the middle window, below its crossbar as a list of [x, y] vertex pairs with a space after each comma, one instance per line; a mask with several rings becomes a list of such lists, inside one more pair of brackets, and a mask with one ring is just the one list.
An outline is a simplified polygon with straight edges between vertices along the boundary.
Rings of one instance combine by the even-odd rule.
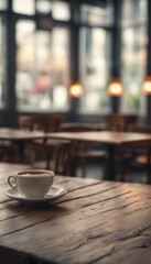
[[80, 111], [84, 113], [109, 110], [109, 58], [110, 38], [107, 31], [82, 28], [79, 65], [84, 96], [80, 99]]

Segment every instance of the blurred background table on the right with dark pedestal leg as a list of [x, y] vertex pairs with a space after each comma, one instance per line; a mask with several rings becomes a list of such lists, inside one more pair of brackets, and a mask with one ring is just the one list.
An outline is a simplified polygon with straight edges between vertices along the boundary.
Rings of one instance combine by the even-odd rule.
[[115, 180], [115, 151], [122, 147], [151, 147], [151, 134], [132, 132], [90, 131], [57, 132], [47, 134], [50, 139], [71, 140], [73, 142], [91, 142], [101, 144], [107, 150], [108, 166], [105, 179]]

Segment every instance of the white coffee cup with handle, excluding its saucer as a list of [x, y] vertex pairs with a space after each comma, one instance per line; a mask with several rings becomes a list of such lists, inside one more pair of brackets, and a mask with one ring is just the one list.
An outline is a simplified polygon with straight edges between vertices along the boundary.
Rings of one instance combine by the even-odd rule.
[[44, 197], [53, 185], [54, 173], [51, 170], [24, 170], [9, 176], [9, 185], [29, 198]]

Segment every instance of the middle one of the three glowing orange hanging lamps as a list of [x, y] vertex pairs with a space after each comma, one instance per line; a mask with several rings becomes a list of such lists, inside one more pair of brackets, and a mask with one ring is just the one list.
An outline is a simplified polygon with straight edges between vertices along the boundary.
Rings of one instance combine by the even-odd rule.
[[112, 79], [108, 86], [108, 95], [109, 96], [122, 96], [123, 86], [119, 79]]

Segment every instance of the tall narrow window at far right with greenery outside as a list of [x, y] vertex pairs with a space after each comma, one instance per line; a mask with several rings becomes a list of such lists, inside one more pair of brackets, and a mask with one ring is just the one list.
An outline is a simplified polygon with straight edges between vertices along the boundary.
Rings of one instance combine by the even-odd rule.
[[147, 69], [147, 0], [122, 0], [121, 77], [125, 112], [145, 111], [142, 82]]

